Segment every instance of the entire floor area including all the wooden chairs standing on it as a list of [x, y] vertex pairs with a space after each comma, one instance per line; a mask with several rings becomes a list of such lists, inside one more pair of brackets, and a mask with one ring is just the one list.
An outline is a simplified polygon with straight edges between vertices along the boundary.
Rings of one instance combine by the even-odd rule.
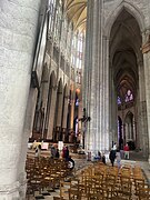
[[104, 166], [101, 161], [87, 161], [72, 153], [76, 168], [70, 172], [64, 160], [50, 160], [48, 151], [42, 156], [34, 160], [33, 153], [28, 153], [29, 200], [150, 199], [149, 166], [146, 161], [121, 160], [121, 169], [118, 170], [117, 164], [111, 167], [109, 160]]

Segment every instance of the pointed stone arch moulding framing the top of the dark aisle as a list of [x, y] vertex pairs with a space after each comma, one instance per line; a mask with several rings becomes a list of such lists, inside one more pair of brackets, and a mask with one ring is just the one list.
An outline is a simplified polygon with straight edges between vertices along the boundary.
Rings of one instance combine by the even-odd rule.
[[107, 38], [110, 37], [111, 28], [123, 9], [126, 9], [131, 16], [134, 17], [134, 19], [137, 20], [140, 27], [140, 31], [142, 32], [144, 30], [146, 24], [143, 20], [144, 19], [143, 14], [140, 12], [140, 10], [137, 7], [133, 6], [133, 3], [123, 1], [119, 3], [114, 10], [112, 10], [112, 12], [109, 14], [109, 17], [106, 20], [103, 30], [104, 30], [104, 36]]

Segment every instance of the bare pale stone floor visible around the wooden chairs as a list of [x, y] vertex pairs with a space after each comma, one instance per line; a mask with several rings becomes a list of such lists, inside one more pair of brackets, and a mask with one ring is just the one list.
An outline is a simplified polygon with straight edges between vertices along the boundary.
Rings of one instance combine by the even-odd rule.
[[[33, 151], [29, 151], [29, 154], [33, 156]], [[49, 156], [49, 151], [43, 151], [42, 156]], [[81, 169], [83, 169], [86, 166], [91, 164], [91, 161], [87, 161], [86, 158], [79, 158], [78, 154], [72, 153], [71, 154], [72, 159], [76, 162], [76, 170], [77, 172], [80, 172]], [[109, 164], [109, 160], [107, 160], [107, 163]], [[148, 163], [148, 161], [146, 161], [146, 159], [142, 157], [141, 152], [130, 152], [130, 160], [121, 160], [121, 164], [131, 164], [132, 167], [138, 164], [142, 168], [143, 170], [143, 174], [146, 177], [147, 182], [150, 184], [150, 164]], [[28, 200], [34, 200], [34, 199], [46, 199], [46, 200], [52, 200], [53, 197], [59, 197], [59, 189], [56, 189], [54, 191], [51, 191], [49, 193], [43, 193], [43, 196], [39, 196], [39, 193], [36, 193], [36, 197], [28, 197]], [[132, 200], [136, 200], [136, 198], [133, 198]]]

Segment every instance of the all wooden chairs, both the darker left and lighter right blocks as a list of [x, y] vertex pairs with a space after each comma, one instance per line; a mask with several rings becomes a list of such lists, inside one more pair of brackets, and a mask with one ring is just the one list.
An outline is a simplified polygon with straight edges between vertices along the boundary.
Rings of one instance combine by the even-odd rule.
[[[32, 191], [60, 188], [59, 199], [69, 200], [139, 200], [150, 199], [142, 170], [136, 166], [117, 167], [98, 162], [84, 168], [76, 178], [66, 180], [69, 171], [64, 160], [27, 160], [28, 186]], [[54, 197], [53, 199], [58, 199]]]

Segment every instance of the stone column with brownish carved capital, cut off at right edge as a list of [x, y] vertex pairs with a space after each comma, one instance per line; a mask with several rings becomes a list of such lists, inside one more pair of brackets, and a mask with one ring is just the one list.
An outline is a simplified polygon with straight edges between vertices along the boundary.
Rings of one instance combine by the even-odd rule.
[[147, 103], [147, 119], [148, 119], [148, 141], [149, 141], [149, 162], [150, 162], [150, 30], [143, 33], [143, 63], [146, 78], [146, 103]]

